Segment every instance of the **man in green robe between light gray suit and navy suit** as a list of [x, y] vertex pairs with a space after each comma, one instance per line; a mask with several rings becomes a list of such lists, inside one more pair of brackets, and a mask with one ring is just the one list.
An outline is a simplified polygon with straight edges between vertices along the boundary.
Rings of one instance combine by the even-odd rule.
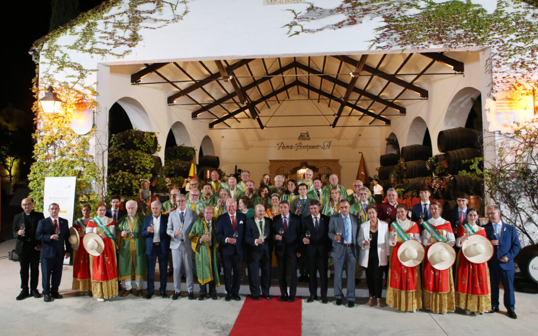
[[216, 300], [216, 287], [221, 285], [221, 281], [218, 277], [216, 255], [218, 240], [211, 206], [206, 206], [203, 211], [203, 217], [194, 222], [193, 227], [190, 229], [189, 239], [193, 247], [196, 273], [200, 283], [198, 299], [202, 301], [206, 298], [207, 285], [209, 284], [209, 295]]

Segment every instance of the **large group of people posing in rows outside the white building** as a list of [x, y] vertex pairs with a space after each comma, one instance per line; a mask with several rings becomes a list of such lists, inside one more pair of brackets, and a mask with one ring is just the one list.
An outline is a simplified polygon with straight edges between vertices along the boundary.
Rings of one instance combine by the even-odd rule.
[[[498, 205], [487, 207], [490, 221], [480, 227], [478, 212], [467, 208], [465, 194], [458, 195], [458, 208], [452, 210], [447, 221], [441, 217], [441, 204], [430, 202], [427, 187], [420, 190], [421, 202], [413, 206], [409, 216], [409, 209], [397, 203], [397, 192], [392, 188], [387, 190], [387, 202], [378, 204], [374, 197], [379, 200], [379, 194], [372, 197], [362, 181], [354, 181], [353, 193], [348, 195], [338, 184], [338, 176], [331, 175], [329, 184], [323, 187], [320, 178], [313, 178], [312, 170], [307, 170], [303, 181], [288, 180], [286, 187], [280, 175], [271, 185], [265, 174], [258, 188], [248, 171], [242, 172], [240, 182], [230, 176], [224, 183], [219, 177], [213, 171], [211, 181], [201, 188], [199, 181], [190, 180], [188, 195], [172, 189], [169, 201], [151, 202], [152, 215], [145, 217], [137, 211], [137, 201], [127, 201], [126, 212], [119, 209], [118, 196], [112, 196], [111, 209], [98, 204], [94, 218], [90, 217], [90, 205], [84, 204], [83, 216], [75, 221], [71, 232], [67, 220], [58, 217], [58, 205], [51, 204], [50, 216], [44, 219], [43, 214], [32, 211], [32, 202], [25, 198], [24, 212], [13, 221], [22, 280], [17, 299], [40, 297], [40, 251], [45, 301], [61, 298], [61, 264], [63, 258], [69, 258], [73, 246], [73, 289], [87, 291], [99, 301], [118, 295], [120, 281], [121, 296], [143, 296], [144, 278], [146, 298], [151, 298], [157, 261], [159, 296], [168, 297], [170, 252], [172, 299], [181, 296], [182, 270], [187, 296], [194, 299], [194, 269], [200, 285], [197, 298], [203, 300], [209, 295], [217, 299], [222, 267], [225, 300], [239, 301], [245, 260], [253, 299], [269, 300], [274, 251], [281, 302], [295, 300], [297, 269], [302, 263], [309, 282], [307, 302], [318, 299], [319, 289], [321, 302], [327, 303], [328, 266], [332, 263], [337, 305], [343, 304], [344, 285], [347, 305], [355, 305], [355, 280], [364, 269], [369, 289], [367, 306], [384, 305], [381, 292], [385, 275], [386, 304], [398, 310], [414, 312], [424, 308], [446, 313], [458, 307], [468, 313], [495, 312], [499, 310], [502, 281], [508, 316], [516, 318], [513, 259], [520, 246], [515, 229], [502, 223]], [[413, 266], [401, 260], [404, 247], [400, 247], [409, 240], [424, 246], [428, 254], [437, 242], [459, 248], [475, 234], [486, 237], [493, 245], [493, 257], [487, 265], [470, 262], [461, 251], [455, 266], [444, 269], [438, 269], [428, 258]]]

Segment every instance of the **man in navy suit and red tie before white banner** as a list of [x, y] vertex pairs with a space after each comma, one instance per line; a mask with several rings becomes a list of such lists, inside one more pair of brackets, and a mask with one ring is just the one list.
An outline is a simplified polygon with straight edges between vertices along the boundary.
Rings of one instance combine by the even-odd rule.
[[58, 217], [60, 206], [56, 203], [48, 206], [48, 213], [51, 217], [41, 219], [36, 230], [36, 238], [41, 241], [41, 283], [45, 302], [51, 302], [51, 297], [62, 298], [58, 288], [62, 280], [63, 259], [71, 256], [67, 219]]

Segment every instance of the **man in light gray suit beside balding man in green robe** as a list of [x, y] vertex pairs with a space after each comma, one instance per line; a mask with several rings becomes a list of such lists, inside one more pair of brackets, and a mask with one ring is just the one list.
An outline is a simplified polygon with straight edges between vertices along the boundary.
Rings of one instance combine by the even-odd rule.
[[189, 300], [194, 300], [193, 288], [193, 248], [190, 245], [189, 232], [194, 221], [198, 218], [196, 213], [187, 209], [185, 195], [176, 196], [175, 203], [178, 209], [172, 211], [168, 217], [166, 233], [172, 237], [170, 248], [172, 249], [172, 262], [174, 263], [174, 295], [173, 300], [178, 299], [181, 293], [181, 266], [185, 268], [187, 275], [187, 291]]

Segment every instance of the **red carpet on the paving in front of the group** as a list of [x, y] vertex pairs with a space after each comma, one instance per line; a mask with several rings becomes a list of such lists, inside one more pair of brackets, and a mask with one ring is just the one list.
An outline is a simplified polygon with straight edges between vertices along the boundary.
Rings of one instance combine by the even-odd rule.
[[248, 296], [233, 325], [231, 336], [300, 335], [301, 297], [294, 302], [280, 302], [280, 296], [271, 300], [254, 301]]

